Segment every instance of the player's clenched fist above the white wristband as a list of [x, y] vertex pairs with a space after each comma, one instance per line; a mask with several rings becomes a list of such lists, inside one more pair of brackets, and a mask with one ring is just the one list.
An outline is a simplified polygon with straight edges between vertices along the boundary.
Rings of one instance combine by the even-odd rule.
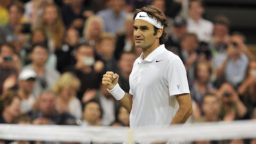
[[102, 78], [102, 84], [109, 90], [113, 89], [118, 82], [119, 76], [114, 74], [113, 71], [107, 71]]

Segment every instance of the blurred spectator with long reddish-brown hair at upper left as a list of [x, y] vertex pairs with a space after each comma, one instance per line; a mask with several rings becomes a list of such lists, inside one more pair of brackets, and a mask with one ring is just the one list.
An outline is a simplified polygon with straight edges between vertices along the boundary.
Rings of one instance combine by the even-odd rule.
[[48, 41], [50, 43], [50, 52], [60, 49], [62, 46], [65, 27], [57, 5], [48, 4], [44, 7], [41, 17], [41, 26], [47, 31], [47, 37], [49, 38]]

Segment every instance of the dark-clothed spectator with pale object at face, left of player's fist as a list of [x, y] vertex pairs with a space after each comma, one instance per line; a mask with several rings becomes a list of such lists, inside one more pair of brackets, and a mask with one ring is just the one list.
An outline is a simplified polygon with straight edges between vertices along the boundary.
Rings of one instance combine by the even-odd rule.
[[67, 67], [66, 71], [71, 71], [80, 80], [81, 86], [77, 91], [77, 97], [82, 100], [86, 90], [88, 92], [89, 89], [99, 89], [104, 64], [95, 61], [93, 47], [88, 44], [80, 44], [76, 47], [75, 59], [75, 65]]

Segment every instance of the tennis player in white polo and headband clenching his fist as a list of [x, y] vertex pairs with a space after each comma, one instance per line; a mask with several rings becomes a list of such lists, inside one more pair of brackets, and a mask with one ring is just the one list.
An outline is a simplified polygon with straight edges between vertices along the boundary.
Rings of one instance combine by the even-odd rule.
[[133, 64], [130, 91], [118, 85], [118, 74], [107, 71], [102, 84], [130, 111], [130, 127], [168, 127], [185, 123], [192, 113], [186, 69], [178, 55], [166, 50], [165, 15], [154, 6], [134, 12], [135, 47], [142, 53]]

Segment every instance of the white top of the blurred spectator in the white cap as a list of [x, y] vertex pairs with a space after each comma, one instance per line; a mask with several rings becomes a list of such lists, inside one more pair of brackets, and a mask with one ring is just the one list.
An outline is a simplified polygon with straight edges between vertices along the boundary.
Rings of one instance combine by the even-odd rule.
[[20, 113], [24, 114], [31, 111], [34, 105], [34, 102], [35, 102], [35, 97], [33, 94], [30, 94], [28, 99], [22, 99], [21, 105], [20, 105]]

